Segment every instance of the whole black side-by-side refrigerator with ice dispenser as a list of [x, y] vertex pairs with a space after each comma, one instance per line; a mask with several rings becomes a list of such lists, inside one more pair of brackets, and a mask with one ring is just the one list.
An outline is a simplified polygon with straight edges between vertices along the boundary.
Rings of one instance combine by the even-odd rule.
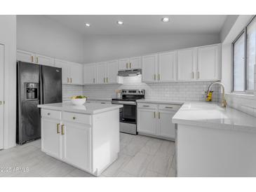
[[17, 144], [41, 137], [38, 104], [62, 102], [62, 69], [17, 62]]

